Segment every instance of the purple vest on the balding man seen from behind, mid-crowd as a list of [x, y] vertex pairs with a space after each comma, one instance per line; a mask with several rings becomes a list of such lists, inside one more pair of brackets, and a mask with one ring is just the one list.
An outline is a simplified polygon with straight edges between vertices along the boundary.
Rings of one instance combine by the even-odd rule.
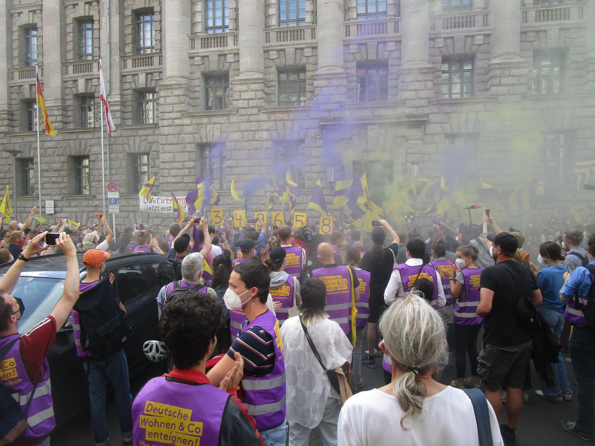
[[314, 277], [320, 278], [327, 287], [327, 306], [325, 313], [328, 318], [337, 322], [343, 332], [351, 331], [351, 290], [353, 284], [347, 266], [334, 268], [318, 268], [312, 271]]

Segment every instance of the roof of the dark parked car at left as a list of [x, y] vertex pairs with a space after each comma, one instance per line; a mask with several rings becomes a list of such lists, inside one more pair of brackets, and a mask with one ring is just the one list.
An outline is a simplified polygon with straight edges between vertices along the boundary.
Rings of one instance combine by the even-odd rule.
[[[110, 253], [111, 257], [105, 259], [105, 266], [109, 268], [110, 265], [126, 265], [127, 263], [138, 262], [161, 262], [165, 260], [165, 256], [157, 253]], [[79, 260], [79, 271], [84, 271], [83, 265], [84, 253], [77, 253]], [[4, 263], [0, 265], [0, 275], [6, 274], [12, 263]], [[55, 279], [64, 279], [66, 277], [66, 256], [64, 254], [52, 254], [47, 256], [32, 257], [29, 262], [25, 263], [21, 276], [24, 277], [49, 277]]]

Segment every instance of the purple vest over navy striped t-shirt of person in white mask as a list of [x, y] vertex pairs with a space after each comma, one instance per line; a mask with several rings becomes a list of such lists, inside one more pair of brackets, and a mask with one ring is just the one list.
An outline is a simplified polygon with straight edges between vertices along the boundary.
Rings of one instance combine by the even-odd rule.
[[275, 348], [275, 365], [267, 375], [260, 378], [244, 375], [242, 388], [243, 403], [248, 413], [256, 420], [256, 429], [267, 431], [285, 421], [285, 359], [283, 358], [283, 341], [279, 321], [271, 310], [256, 316], [251, 322], [246, 320], [242, 331], [252, 326], [259, 326], [273, 338]]

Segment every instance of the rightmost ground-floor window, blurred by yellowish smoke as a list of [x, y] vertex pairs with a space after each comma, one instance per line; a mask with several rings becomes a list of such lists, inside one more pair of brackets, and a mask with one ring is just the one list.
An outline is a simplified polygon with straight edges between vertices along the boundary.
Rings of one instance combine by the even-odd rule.
[[572, 156], [571, 134], [547, 134], [543, 147], [543, 178], [547, 178], [552, 186], [561, 186], [574, 181], [572, 172], [574, 156]]

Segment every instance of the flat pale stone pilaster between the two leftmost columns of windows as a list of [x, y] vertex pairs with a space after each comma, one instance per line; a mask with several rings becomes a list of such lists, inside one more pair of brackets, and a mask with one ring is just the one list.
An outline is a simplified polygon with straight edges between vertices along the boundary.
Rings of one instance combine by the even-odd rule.
[[[65, 54], [64, 7], [45, 2], [42, 10], [43, 96], [55, 128], [62, 127], [62, 59]], [[53, 112], [51, 112], [53, 110]], [[60, 122], [60, 124], [58, 124]], [[58, 125], [56, 125], [58, 124]]]

